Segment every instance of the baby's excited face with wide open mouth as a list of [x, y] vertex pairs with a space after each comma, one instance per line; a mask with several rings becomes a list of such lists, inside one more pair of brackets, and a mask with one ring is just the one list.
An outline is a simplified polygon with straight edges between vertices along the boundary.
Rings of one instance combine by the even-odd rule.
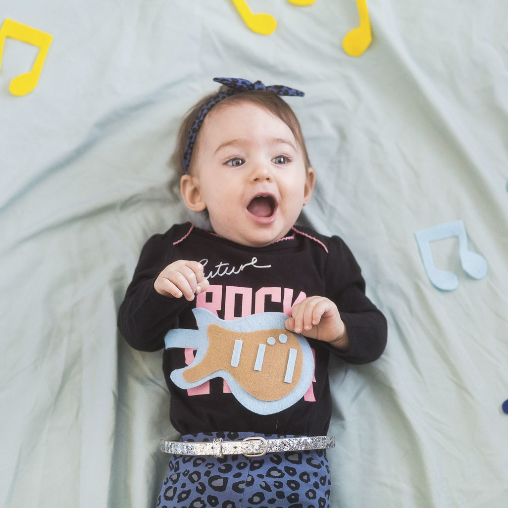
[[251, 103], [220, 105], [195, 146], [199, 190], [218, 235], [260, 247], [287, 234], [314, 184], [291, 129]]

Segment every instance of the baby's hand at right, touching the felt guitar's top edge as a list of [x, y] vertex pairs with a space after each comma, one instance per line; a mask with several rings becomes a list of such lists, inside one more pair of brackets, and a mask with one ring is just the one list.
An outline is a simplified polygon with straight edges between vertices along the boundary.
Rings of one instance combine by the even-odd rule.
[[347, 350], [350, 346], [337, 306], [323, 296], [309, 296], [297, 303], [285, 327], [290, 332], [329, 342], [340, 350]]

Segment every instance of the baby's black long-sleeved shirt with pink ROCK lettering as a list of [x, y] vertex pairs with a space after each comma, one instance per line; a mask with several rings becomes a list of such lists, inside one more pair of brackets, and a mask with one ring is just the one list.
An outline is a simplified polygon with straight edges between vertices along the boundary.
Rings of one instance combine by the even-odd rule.
[[[153, 287], [157, 275], [177, 260], [201, 262], [210, 288], [192, 302], [168, 298]], [[152, 236], [143, 247], [125, 298], [118, 326], [128, 343], [142, 351], [165, 346], [174, 328], [196, 329], [192, 309], [205, 307], [230, 320], [259, 312], [291, 313], [307, 296], [332, 300], [346, 325], [351, 347], [341, 353], [319, 340], [307, 339], [314, 355], [309, 391], [291, 407], [269, 415], [245, 408], [223, 379], [209, 380], [201, 390], [185, 390], [171, 372], [189, 363], [182, 348], [165, 350], [163, 370], [171, 394], [170, 418], [182, 434], [212, 431], [251, 431], [265, 434], [323, 435], [331, 418], [328, 380], [329, 354], [353, 364], [376, 360], [384, 351], [384, 315], [365, 296], [365, 281], [351, 251], [339, 237], [326, 237], [307, 228], [266, 247], [247, 247], [186, 223]]]

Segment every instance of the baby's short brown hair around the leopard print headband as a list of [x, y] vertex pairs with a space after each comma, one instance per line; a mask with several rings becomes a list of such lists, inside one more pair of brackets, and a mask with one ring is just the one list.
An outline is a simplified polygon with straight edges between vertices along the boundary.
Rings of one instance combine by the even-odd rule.
[[[208, 102], [218, 96], [219, 93], [225, 92], [229, 90], [226, 85], [221, 86], [216, 92], [210, 93], [207, 96], [203, 97], [196, 105], [191, 108], [180, 124], [180, 129], [178, 131], [178, 137], [176, 142], [176, 147], [174, 151], [174, 160], [177, 163], [178, 174], [180, 176], [183, 175], [183, 156], [185, 153], [185, 146], [187, 144], [187, 137], [192, 127], [192, 124], [196, 120], [198, 113], [201, 108], [203, 108]], [[303, 153], [303, 160], [305, 162], [305, 169], [310, 168], [310, 160], [309, 155], [307, 153], [307, 147], [305, 146], [305, 140], [303, 139], [302, 129], [300, 126], [300, 122], [295, 115], [295, 112], [291, 109], [289, 104], [283, 101], [275, 92], [270, 90], [249, 90], [245, 92], [234, 93], [233, 95], [223, 99], [218, 102], [215, 106], [211, 108], [212, 111], [214, 108], [221, 105], [229, 105], [229, 104], [238, 104], [241, 102], [249, 102], [256, 106], [259, 106], [268, 112], [272, 113], [274, 116], [282, 120], [288, 127], [291, 129], [293, 136], [297, 143], [300, 145], [300, 148]], [[209, 113], [209, 112], [208, 112]], [[200, 133], [198, 132], [198, 137], [196, 138], [196, 142], [198, 141]], [[196, 147], [197, 143], [195, 144]], [[189, 164], [189, 173], [192, 172], [194, 161], [194, 152], [192, 157], [190, 158]]]

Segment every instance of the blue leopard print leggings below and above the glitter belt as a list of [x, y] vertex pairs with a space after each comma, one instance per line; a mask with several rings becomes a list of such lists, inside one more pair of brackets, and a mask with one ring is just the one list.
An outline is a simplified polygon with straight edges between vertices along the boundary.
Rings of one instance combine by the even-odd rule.
[[[182, 440], [231, 440], [253, 435], [199, 433], [184, 435]], [[156, 508], [330, 508], [330, 468], [324, 450], [262, 457], [225, 455], [221, 459], [172, 455], [168, 466]]]

